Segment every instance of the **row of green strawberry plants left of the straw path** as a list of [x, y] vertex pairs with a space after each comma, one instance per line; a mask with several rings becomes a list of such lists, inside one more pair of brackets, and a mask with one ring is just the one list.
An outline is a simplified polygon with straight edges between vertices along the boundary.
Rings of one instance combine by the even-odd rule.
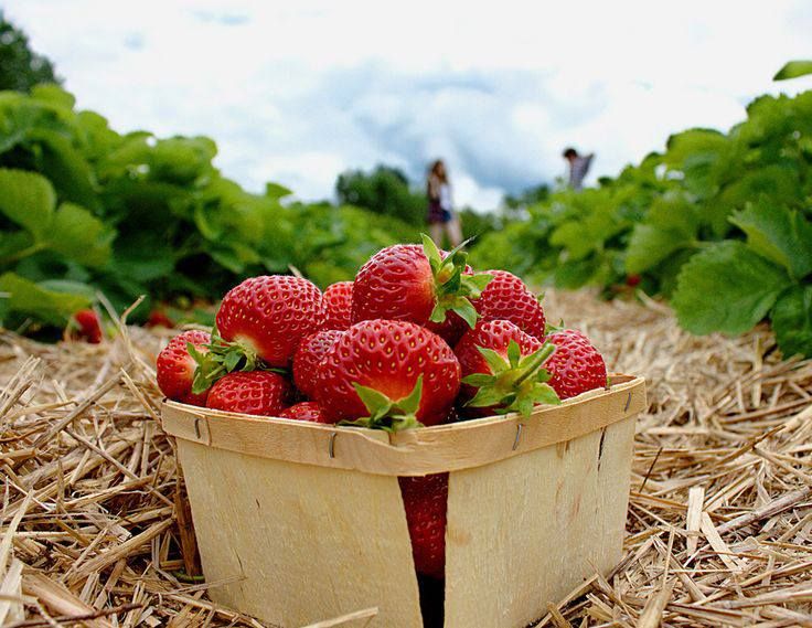
[[247, 275], [291, 267], [325, 286], [419, 237], [389, 215], [288, 202], [278, 184], [247, 192], [213, 166], [211, 139], [121, 135], [74, 105], [56, 85], [0, 92], [7, 326], [64, 324], [99, 291], [119, 310], [146, 295], [142, 320], [151, 301], [215, 300]]

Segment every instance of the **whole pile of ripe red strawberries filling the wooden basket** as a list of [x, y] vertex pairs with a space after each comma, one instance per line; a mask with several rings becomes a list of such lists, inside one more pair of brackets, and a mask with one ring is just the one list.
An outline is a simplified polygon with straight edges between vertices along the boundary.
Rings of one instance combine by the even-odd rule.
[[[539, 300], [467, 254], [398, 244], [354, 281], [246, 279], [212, 333], [185, 331], [158, 356], [169, 398], [209, 408], [397, 430], [519, 412], [603, 387], [603, 359]], [[441, 576], [448, 475], [400, 478], [418, 572]]]

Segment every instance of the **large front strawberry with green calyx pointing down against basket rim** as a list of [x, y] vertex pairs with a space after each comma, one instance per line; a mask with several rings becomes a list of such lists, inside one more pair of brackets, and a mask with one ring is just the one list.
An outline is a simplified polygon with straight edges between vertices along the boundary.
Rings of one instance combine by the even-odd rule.
[[367, 320], [330, 349], [314, 396], [331, 423], [403, 429], [441, 423], [459, 386], [459, 362], [439, 336], [412, 322]]

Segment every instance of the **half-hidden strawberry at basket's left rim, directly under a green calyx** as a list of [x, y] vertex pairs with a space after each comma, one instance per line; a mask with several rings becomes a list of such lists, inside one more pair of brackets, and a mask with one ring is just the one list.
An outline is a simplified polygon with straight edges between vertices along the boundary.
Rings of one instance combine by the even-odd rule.
[[288, 381], [270, 371], [237, 371], [224, 375], [209, 391], [206, 407], [276, 416], [287, 406]]

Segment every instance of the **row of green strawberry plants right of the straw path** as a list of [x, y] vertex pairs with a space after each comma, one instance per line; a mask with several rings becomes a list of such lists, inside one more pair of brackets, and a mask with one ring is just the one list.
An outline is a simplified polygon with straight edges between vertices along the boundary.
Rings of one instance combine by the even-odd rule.
[[472, 263], [606, 296], [639, 285], [671, 298], [695, 333], [771, 317], [786, 353], [812, 355], [811, 221], [812, 92], [762, 96], [727, 134], [676, 134], [595, 189], [531, 204], [482, 238]]

